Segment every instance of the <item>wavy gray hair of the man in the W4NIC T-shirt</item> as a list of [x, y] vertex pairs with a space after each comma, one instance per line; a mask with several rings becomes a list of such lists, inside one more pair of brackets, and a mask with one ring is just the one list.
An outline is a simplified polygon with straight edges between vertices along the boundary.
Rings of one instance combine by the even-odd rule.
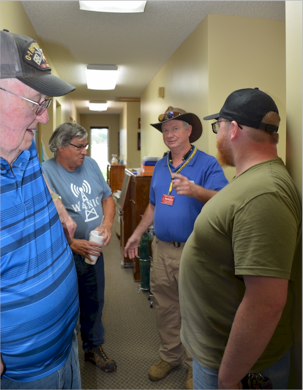
[[56, 127], [48, 147], [52, 152], [56, 152], [58, 148], [65, 148], [76, 137], [80, 137], [79, 141], [87, 138], [87, 131], [84, 127], [71, 122], [62, 123]]

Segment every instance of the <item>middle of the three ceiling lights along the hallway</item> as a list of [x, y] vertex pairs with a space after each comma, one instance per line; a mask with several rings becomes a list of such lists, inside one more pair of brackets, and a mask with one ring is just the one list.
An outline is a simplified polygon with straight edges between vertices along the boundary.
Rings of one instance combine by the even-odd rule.
[[116, 65], [87, 65], [85, 75], [88, 89], [114, 89], [119, 69]]

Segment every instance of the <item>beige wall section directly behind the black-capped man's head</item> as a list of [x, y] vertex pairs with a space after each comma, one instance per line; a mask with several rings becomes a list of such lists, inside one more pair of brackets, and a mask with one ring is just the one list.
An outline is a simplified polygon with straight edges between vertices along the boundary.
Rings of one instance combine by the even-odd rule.
[[[234, 90], [258, 87], [277, 104], [279, 126], [278, 155], [285, 162], [286, 79], [285, 22], [224, 15], [208, 15], [208, 107], [205, 115], [219, 112]], [[208, 153], [216, 146], [211, 121], [208, 126]], [[225, 169], [230, 180], [234, 168]]]

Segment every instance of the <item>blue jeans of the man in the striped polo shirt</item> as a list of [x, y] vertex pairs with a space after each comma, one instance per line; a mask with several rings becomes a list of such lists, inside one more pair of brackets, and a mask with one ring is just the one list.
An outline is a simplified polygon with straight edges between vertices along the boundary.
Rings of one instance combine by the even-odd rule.
[[1, 379], [1, 389], [81, 389], [81, 375], [78, 359], [78, 341], [77, 333], [74, 331], [72, 349], [67, 358], [67, 361], [63, 364], [59, 370], [52, 374], [45, 376], [44, 378], [37, 379], [30, 382], [17, 382], [7, 378]]

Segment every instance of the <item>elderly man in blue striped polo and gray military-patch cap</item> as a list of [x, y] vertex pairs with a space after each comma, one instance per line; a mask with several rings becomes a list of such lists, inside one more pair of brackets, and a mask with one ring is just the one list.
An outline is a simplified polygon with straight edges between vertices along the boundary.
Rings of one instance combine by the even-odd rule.
[[[1, 31], [0, 49], [1, 388], [81, 389], [76, 268], [33, 140], [46, 97], [75, 87], [35, 40]], [[57, 207], [72, 242], [75, 223]]]

